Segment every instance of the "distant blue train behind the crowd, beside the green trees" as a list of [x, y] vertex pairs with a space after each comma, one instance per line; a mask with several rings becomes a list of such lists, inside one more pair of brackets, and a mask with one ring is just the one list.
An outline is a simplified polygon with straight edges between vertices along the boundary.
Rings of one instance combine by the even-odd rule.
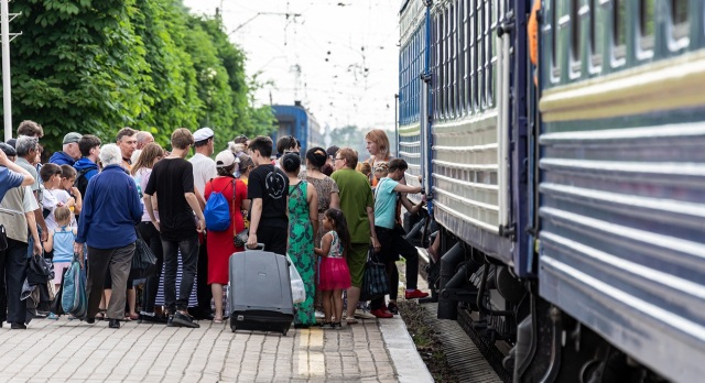
[[300, 101], [294, 105], [274, 105], [272, 109], [276, 119], [276, 130], [272, 133], [274, 145], [279, 138], [286, 135], [293, 135], [301, 142], [301, 153], [306, 153], [310, 147], [324, 145], [321, 125]]

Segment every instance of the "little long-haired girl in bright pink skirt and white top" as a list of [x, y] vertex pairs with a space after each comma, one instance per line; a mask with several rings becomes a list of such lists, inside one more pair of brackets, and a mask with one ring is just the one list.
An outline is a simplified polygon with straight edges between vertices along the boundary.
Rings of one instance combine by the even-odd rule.
[[[348, 223], [343, 212], [330, 208], [323, 215], [323, 228], [327, 231], [321, 239], [321, 248], [314, 249], [322, 256], [318, 272], [318, 289], [323, 292], [323, 327], [340, 327], [343, 317], [343, 291], [350, 287], [350, 270], [345, 261], [350, 247]], [[332, 307], [332, 304], [334, 307]], [[335, 320], [332, 322], [333, 308]]]

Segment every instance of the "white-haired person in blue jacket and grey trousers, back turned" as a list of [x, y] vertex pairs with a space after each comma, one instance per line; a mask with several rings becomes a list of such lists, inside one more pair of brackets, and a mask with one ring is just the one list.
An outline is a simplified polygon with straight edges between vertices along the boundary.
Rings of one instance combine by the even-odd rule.
[[[137, 233], [134, 226], [142, 220], [142, 205], [137, 185], [122, 168], [122, 154], [115, 144], [100, 149], [102, 172], [88, 183], [84, 198], [74, 252], [83, 254], [88, 244], [90, 270], [88, 272], [88, 313], [86, 321], [93, 324], [106, 273], [110, 271], [112, 295], [108, 303], [108, 327], [120, 328], [124, 318], [128, 276]], [[84, 258], [79, 258], [83, 263]]]

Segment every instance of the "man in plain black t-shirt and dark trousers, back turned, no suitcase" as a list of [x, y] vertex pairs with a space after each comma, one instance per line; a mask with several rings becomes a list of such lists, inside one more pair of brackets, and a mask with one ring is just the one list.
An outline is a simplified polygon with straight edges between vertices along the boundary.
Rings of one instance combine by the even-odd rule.
[[[200, 206], [194, 194], [194, 171], [184, 160], [194, 144], [187, 129], [172, 134], [172, 154], [154, 164], [150, 180], [143, 190], [144, 208], [160, 231], [164, 251], [164, 303], [170, 314], [169, 326], [199, 327], [188, 316], [188, 297], [194, 287], [198, 262], [198, 232], [205, 227]], [[152, 209], [152, 195], [156, 193], [159, 221]], [[194, 220], [194, 214], [196, 219]], [[183, 274], [176, 298], [176, 270], [181, 250]], [[173, 316], [173, 317], [172, 317]]]

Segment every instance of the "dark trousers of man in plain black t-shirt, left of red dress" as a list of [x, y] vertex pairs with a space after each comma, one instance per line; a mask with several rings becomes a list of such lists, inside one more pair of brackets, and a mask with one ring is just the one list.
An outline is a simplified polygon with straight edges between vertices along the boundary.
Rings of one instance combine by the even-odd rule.
[[[194, 280], [198, 266], [198, 236], [180, 241], [162, 239], [164, 249], [164, 304], [170, 314], [188, 309], [188, 297], [194, 288]], [[178, 269], [178, 251], [183, 262], [183, 274], [176, 298], [176, 270]]]

